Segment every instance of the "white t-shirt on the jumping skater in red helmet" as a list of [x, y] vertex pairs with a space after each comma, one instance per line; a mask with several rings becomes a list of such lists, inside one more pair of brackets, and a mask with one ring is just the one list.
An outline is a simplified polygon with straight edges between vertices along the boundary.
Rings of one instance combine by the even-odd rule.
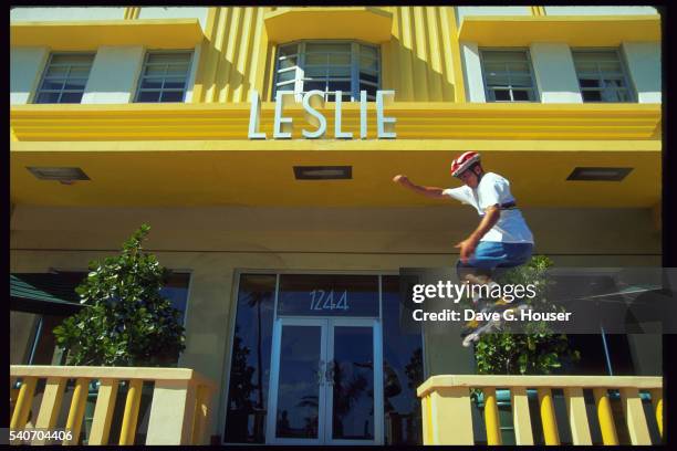
[[[458, 188], [447, 188], [442, 191], [442, 195], [475, 207], [480, 217], [483, 217], [487, 208], [491, 206], [514, 202], [514, 198], [510, 193], [510, 182], [493, 172], [485, 172], [479, 186], [475, 189], [464, 185]], [[498, 222], [480, 241], [533, 244], [533, 235], [520, 210], [501, 210]]]

